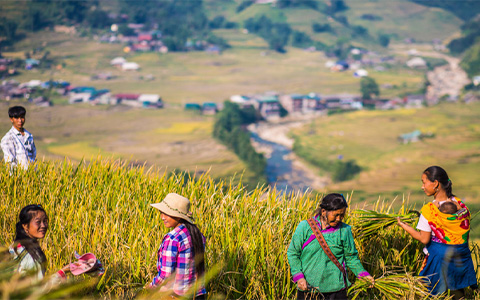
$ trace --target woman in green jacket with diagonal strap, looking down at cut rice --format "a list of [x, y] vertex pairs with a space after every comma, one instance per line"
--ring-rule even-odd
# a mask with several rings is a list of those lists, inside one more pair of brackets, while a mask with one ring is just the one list
[[[374, 282], [358, 258], [351, 227], [342, 222], [347, 207], [343, 195], [328, 194], [315, 211], [312, 225], [307, 220], [298, 224], [287, 251], [297, 299], [348, 299], [350, 282], [345, 267]], [[321, 231], [342, 271], [325, 253], [311, 226]]]

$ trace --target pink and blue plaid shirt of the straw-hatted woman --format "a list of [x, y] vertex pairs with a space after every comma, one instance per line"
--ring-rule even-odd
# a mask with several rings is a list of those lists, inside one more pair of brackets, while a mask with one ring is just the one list
[[[205, 246], [205, 237], [203, 245]], [[158, 249], [158, 274], [153, 278], [151, 286], [160, 285], [168, 277], [174, 275], [173, 291], [177, 295], [186, 294], [197, 279], [192, 252], [192, 239], [185, 225], [180, 224], [167, 233]], [[203, 283], [199, 283], [197, 296], [206, 293]]]

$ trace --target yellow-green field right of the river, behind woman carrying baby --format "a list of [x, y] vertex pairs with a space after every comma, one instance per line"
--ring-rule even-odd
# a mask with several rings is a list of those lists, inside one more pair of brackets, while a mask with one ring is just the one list
[[[430, 165], [449, 173], [453, 191], [467, 203], [480, 203], [480, 104], [441, 104], [418, 110], [359, 111], [316, 119], [295, 130], [308, 155], [355, 160], [363, 171], [353, 180], [328, 186], [354, 191], [360, 201], [410, 197], [427, 200], [420, 175]], [[420, 130], [433, 137], [403, 144], [401, 134]], [[321, 172], [321, 171], [319, 171]]]

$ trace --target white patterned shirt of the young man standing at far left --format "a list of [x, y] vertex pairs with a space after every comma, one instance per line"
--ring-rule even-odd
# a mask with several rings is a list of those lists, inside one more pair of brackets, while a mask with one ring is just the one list
[[24, 133], [25, 135], [22, 136], [20, 131], [12, 126], [2, 138], [1, 146], [5, 163], [12, 167], [20, 165], [27, 169], [31, 163], [35, 162], [37, 149], [32, 134], [27, 130], [24, 130]]

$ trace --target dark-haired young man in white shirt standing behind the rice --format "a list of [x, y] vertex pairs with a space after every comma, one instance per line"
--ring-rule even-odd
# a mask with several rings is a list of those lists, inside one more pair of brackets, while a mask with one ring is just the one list
[[8, 109], [12, 128], [2, 138], [1, 146], [6, 164], [10, 167], [20, 165], [23, 169], [35, 162], [37, 149], [33, 136], [23, 128], [27, 111], [23, 106], [13, 106]]

